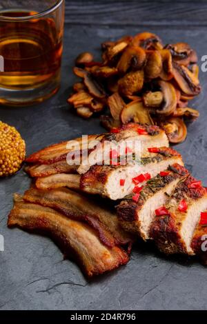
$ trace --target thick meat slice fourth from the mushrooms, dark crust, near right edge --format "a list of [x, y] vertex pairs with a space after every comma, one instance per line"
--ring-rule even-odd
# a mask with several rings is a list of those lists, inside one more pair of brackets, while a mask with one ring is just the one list
[[181, 181], [166, 202], [166, 214], [157, 216], [150, 236], [166, 254], [195, 254], [190, 246], [200, 214], [207, 208], [207, 192], [193, 176]]

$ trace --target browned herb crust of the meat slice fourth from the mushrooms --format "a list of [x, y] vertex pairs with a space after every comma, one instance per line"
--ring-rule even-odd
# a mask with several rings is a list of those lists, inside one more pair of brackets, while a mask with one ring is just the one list
[[196, 179], [193, 176], [188, 176], [177, 185], [165, 206], [169, 214], [158, 216], [151, 225], [150, 236], [155, 240], [159, 250], [166, 254], [188, 253], [186, 244], [180, 235], [181, 224], [186, 214], [179, 211], [178, 205], [181, 199], [185, 199], [190, 205], [192, 201], [196, 201], [206, 194], [203, 187], [189, 188], [192, 181], [196, 181]]

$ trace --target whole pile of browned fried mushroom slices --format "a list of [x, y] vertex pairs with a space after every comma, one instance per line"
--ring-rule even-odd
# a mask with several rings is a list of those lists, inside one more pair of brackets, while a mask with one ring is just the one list
[[186, 120], [199, 112], [188, 101], [199, 92], [197, 54], [188, 43], [163, 45], [157, 35], [143, 32], [135, 37], [101, 44], [102, 61], [81, 53], [73, 69], [81, 82], [68, 99], [83, 118], [109, 108], [101, 123], [108, 129], [134, 121], [164, 128], [171, 143], [186, 139]]

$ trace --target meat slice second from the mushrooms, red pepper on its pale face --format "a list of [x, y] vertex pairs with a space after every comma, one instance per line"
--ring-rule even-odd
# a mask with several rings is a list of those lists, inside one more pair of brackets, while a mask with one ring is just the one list
[[172, 148], [159, 148], [157, 153], [148, 152], [132, 165], [94, 165], [82, 174], [80, 189], [112, 200], [123, 199], [132, 193], [135, 188], [133, 179], [139, 174], [149, 173], [153, 177], [174, 163], [183, 165], [181, 155]]

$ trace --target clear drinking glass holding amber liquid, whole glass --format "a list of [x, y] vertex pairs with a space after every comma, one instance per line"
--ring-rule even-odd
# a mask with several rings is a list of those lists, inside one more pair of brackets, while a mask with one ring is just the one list
[[64, 0], [0, 1], [0, 104], [30, 105], [60, 85]]

